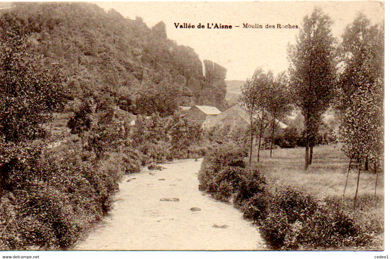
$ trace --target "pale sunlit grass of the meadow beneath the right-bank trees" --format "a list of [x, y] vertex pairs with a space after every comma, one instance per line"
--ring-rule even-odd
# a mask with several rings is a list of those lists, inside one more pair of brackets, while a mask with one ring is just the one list
[[[312, 165], [304, 170], [305, 147], [294, 149], [274, 149], [270, 158], [269, 150], [260, 152], [260, 162], [253, 155], [253, 165], [263, 172], [274, 184], [292, 185], [304, 188], [319, 199], [342, 197], [346, 183], [349, 160], [335, 145], [314, 147]], [[350, 170], [345, 196], [353, 198], [356, 191], [358, 170]], [[376, 175], [362, 171], [359, 182], [359, 196], [373, 196]], [[377, 180], [377, 196], [384, 196], [384, 175]]]

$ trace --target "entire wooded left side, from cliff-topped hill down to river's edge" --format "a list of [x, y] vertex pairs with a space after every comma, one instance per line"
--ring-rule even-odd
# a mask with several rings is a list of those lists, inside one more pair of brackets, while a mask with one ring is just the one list
[[[0, 28], [2, 250], [69, 249], [111, 209], [124, 174], [204, 154], [200, 125], [178, 106], [224, 110], [226, 69], [204, 60], [204, 76], [162, 22], [148, 28], [86, 3], [15, 3]], [[56, 132], [45, 126], [53, 114], [66, 120]]]

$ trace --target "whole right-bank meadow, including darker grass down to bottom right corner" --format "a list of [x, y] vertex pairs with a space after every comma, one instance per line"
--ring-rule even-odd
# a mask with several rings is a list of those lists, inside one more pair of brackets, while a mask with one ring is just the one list
[[[256, 153], [256, 152], [255, 152]], [[260, 162], [253, 155], [252, 165], [264, 172], [272, 188], [290, 185], [310, 192], [330, 209], [349, 211], [358, 225], [373, 233], [375, 242], [359, 250], [384, 249], [384, 174], [378, 175], [375, 196], [376, 175], [369, 171], [360, 174], [356, 206], [353, 206], [357, 186], [358, 170], [350, 170], [344, 200], [342, 200], [349, 160], [338, 146], [314, 147], [312, 165], [304, 170], [305, 147], [275, 149], [260, 152]]]

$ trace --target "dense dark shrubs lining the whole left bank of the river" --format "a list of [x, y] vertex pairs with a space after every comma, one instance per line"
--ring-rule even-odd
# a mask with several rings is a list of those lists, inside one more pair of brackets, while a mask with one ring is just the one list
[[111, 209], [124, 174], [151, 162], [197, 158], [216, 144], [213, 132], [203, 137], [179, 114], [139, 116], [129, 128], [111, 113], [95, 114], [90, 130], [78, 135], [0, 139], [1, 250], [72, 248]]

